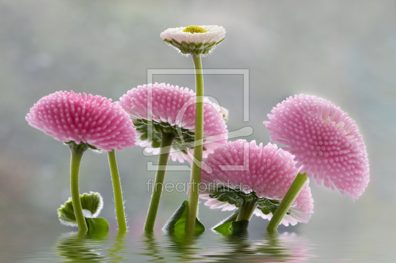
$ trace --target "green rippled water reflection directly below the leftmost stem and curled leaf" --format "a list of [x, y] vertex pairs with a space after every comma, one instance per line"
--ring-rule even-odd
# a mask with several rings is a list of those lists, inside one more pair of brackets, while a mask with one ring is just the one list
[[63, 234], [56, 242], [55, 251], [64, 258], [63, 262], [105, 262], [103, 243], [105, 235], [89, 235], [78, 232]]

